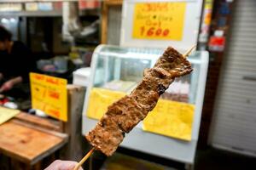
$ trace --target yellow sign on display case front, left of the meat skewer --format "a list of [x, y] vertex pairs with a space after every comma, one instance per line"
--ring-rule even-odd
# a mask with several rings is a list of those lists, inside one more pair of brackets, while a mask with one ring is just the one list
[[90, 91], [87, 116], [100, 119], [108, 111], [108, 106], [125, 96], [124, 92], [117, 92], [105, 88], [92, 88]]

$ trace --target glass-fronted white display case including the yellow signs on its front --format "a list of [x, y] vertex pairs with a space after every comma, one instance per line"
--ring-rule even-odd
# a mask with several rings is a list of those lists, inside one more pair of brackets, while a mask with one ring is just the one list
[[[107, 111], [108, 105], [131, 93], [142, 80], [143, 71], [153, 67], [163, 51], [164, 49], [158, 48], [122, 48], [110, 45], [96, 48], [92, 57], [90, 84], [84, 99], [84, 134], [96, 125]], [[126, 135], [121, 146], [177, 161], [194, 161], [208, 53], [196, 51], [189, 55], [189, 61], [193, 72], [172, 82], [154, 111]]]

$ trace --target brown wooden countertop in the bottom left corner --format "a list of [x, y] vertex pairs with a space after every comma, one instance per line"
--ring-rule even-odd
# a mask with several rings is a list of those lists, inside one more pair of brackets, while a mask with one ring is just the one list
[[0, 126], [0, 151], [34, 165], [67, 144], [67, 134], [55, 130], [56, 125], [49, 120], [20, 113]]

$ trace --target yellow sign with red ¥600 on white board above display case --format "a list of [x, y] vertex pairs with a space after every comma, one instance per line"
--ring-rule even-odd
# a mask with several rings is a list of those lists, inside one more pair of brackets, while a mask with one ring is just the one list
[[183, 38], [186, 3], [136, 3], [132, 37], [137, 39], [175, 40]]

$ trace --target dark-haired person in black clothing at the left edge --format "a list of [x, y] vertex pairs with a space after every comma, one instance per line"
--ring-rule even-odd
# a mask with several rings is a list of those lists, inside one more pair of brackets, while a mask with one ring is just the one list
[[0, 93], [9, 91], [20, 82], [28, 82], [35, 61], [26, 45], [12, 41], [12, 34], [0, 26]]

